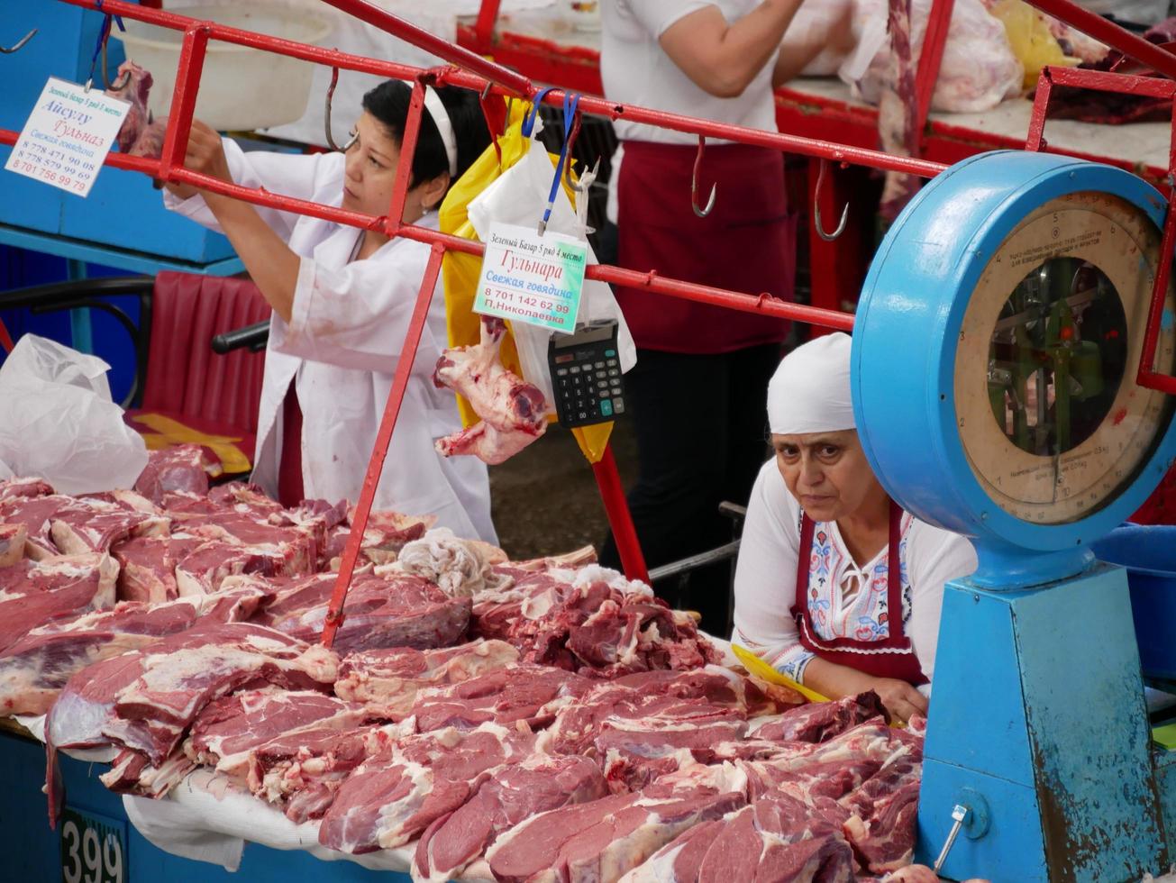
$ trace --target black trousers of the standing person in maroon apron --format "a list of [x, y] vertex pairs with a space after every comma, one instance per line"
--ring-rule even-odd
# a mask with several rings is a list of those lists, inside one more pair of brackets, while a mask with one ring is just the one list
[[[624, 375], [639, 470], [628, 500], [650, 568], [730, 540], [719, 503], [746, 506], [768, 457], [768, 380], [780, 357], [775, 343], [721, 355], [637, 352]], [[612, 535], [601, 563], [620, 568]], [[717, 635], [727, 628], [729, 577], [729, 562], [721, 562], [655, 589], [701, 613], [702, 628]]]

